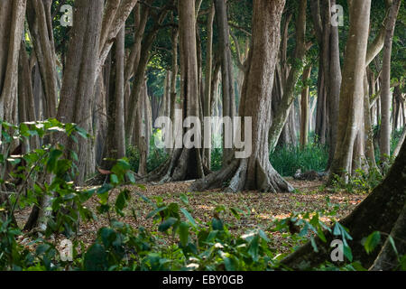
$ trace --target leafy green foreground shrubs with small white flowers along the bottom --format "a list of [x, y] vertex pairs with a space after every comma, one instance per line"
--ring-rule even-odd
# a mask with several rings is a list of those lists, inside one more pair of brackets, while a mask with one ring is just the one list
[[[77, 126], [63, 125], [56, 120], [24, 123], [21, 126], [2, 123], [2, 126], [2, 145], [6, 152], [16, 138], [24, 143], [32, 135], [55, 140], [58, 137], [50, 136], [63, 133], [73, 140], [77, 140], [77, 136], [88, 136]], [[166, 203], [160, 196], [149, 200], [140, 192], [128, 191], [121, 184], [125, 180], [134, 182], [134, 175], [130, 171], [132, 165], [126, 159], [115, 163], [111, 170], [111, 182], [91, 189], [78, 188], [71, 182], [76, 173], [74, 163], [77, 157], [73, 152], [67, 153], [62, 145], [50, 142], [19, 157], [1, 154], [2, 163], [19, 165], [14, 170], [14, 177], [37, 182], [32, 187], [26, 182], [23, 187], [28, 189], [27, 194], [19, 191], [10, 198], [11, 206], [5, 204], [0, 207], [0, 217], [5, 216], [0, 218], [0, 270], [289, 270], [279, 263], [286, 254], [278, 254], [272, 247], [272, 239], [262, 229], [249, 229], [238, 237], [231, 234], [228, 229], [230, 224], [222, 216], [231, 213], [240, 219], [241, 213], [244, 213], [242, 210], [218, 205], [213, 211], [213, 218], [203, 222], [194, 219], [186, 194], [180, 194], [180, 202]], [[70, 157], [66, 158], [67, 155]], [[19, 158], [23, 158], [24, 162], [17, 162]], [[113, 191], [118, 191], [115, 200], [112, 198]], [[17, 241], [27, 235], [13, 223], [12, 213], [16, 207], [38, 204], [44, 194], [52, 197], [47, 229], [37, 237], [30, 238], [31, 242], [26, 247]], [[85, 203], [90, 198], [97, 200], [97, 212], [86, 207]], [[113, 217], [124, 217], [129, 211], [136, 216], [134, 209], [129, 208], [131, 198], [139, 198], [151, 205], [152, 211], [147, 218], [153, 221], [152, 229], [133, 228]], [[337, 221], [333, 228], [329, 228], [322, 221], [323, 217], [334, 217], [337, 210], [338, 207], [332, 206], [328, 200], [328, 210], [292, 213], [289, 219], [275, 220], [271, 224], [272, 230], [281, 231], [287, 241], [296, 247], [309, 239], [316, 251], [319, 246], [316, 237], [327, 243], [328, 231], [343, 240], [344, 254], [352, 262], [352, 252], [347, 243], [351, 236], [346, 228]], [[106, 216], [108, 224], [100, 228], [97, 238], [89, 247], [85, 247], [76, 238], [78, 219], [83, 222], [95, 220], [97, 214]], [[73, 260], [61, 258], [58, 244], [49, 241], [54, 234], [63, 234], [72, 241]], [[364, 247], [371, 251], [378, 242], [375, 233], [366, 238]], [[392, 244], [394, 247], [394, 242]], [[404, 269], [404, 256], [399, 256], [399, 260]], [[362, 266], [356, 262], [345, 266], [327, 263], [313, 269], [361, 270]]]

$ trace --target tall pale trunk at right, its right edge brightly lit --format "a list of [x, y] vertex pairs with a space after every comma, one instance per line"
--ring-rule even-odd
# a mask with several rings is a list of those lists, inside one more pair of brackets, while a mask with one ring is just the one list
[[363, 109], [365, 56], [368, 41], [369, 15], [371, 1], [357, 1], [351, 5], [351, 23], [346, 43], [346, 60], [343, 70], [343, 85], [340, 93], [337, 147], [331, 163], [329, 182], [336, 175], [347, 180], [351, 172], [352, 156], [360, 120], [359, 111]]

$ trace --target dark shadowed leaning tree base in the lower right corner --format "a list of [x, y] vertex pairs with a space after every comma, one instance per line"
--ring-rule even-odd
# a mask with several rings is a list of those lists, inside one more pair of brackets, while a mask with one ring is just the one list
[[[406, 143], [401, 148], [401, 153], [396, 158], [392, 169], [385, 180], [345, 219], [339, 221], [348, 228], [350, 236], [348, 241], [355, 261], [360, 261], [365, 268], [371, 270], [391, 270], [398, 264], [397, 258], [392, 253], [389, 238], [378, 245], [371, 254], [366, 254], [362, 245], [363, 238], [374, 231], [381, 232], [381, 236], [390, 234], [395, 242], [400, 256], [406, 254], [405, 214], [406, 214]], [[330, 243], [337, 236], [325, 232], [327, 242], [316, 238], [318, 252], [313, 250], [311, 243], [300, 247], [291, 256], [282, 261], [283, 266], [291, 269], [304, 270], [318, 266], [329, 260]], [[374, 266], [373, 266], [374, 265]], [[372, 267], [370, 267], [372, 266]]]

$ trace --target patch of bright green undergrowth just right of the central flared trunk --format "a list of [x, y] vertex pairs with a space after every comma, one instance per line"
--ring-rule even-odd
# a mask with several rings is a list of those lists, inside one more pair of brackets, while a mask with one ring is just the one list
[[318, 144], [309, 144], [304, 149], [283, 146], [270, 154], [270, 161], [282, 176], [293, 176], [299, 169], [302, 172], [323, 172], [328, 163], [328, 148]]

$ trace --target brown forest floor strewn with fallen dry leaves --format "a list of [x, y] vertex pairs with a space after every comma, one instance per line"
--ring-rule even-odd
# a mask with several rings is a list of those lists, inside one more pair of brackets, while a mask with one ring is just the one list
[[[258, 191], [245, 191], [241, 193], [228, 193], [221, 190], [186, 193], [190, 182], [172, 182], [161, 185], [146, 185], [143, 189], [137, 186], [124, 186], [120, 190], [112, 191], [109, 201], [115, 202], [118, 193], [127, 189], [133, 192], [128, 208], [125, 210], [125, 218], [117, 217], [114, 214], [111, 218], [119, 219], [134, 228], [144, 227], [157, 231], [158, 224], [153, 219], [147, 219], [147, 215], [153, 210], [151, 204], [148, 204], [135, 192], [143, 194], [152, 201], [161, 198], [166, 204], [177, 202], [180, 208], [184, 207], [191, 212], [191, 215], [197, 222], [208, 222], [214, 216], [214, 211], [219, 205], [226, 208], [238, 208], [244, 211], [240, 219], [236, 219], [230, 210], [221, 214], [221, 219], [228, 224], [228, 229], [235, 236], [243, 235], [247, 230], [261, 228], [272, 236], [272, 247], [279, 252], [286, 252], [290, 249], [289, 241], [283, 237], [280, 232], [272, 231], [272, 220], [286, 219], [291, 213], [306, 213], [316, 210], [331, 210], [328, 208], [328, 198], [332, 205], [338, 205], [339, 210], [335, 219], [341, 219], [354, 210], [366, 194], [350, 194], [345, 191], [329, 191], [322, 182], [294, 181], [289, 182], [296, 188], [293, 193], [259, 193]], [[180, 200], [180, 195], [186, 194], [189, 203], [185, 204]], [[88, 200], [88, 208], [97, 211], [97, 197]], [[15, 217], [20, 226], [23, 226], [28, 219], [30, 210], [17, 211]], [[133, 213], [134, 212], [134, 213]], [[323, 217], [322, 220], [330, 224], [331, 219]], [[108, 226], [108, 219], [105, 216], [97, 215], [96, 221], [80, 224], [78, 238], [87, 246], [92, 244], [97, 237], [97, 230]], [[163, 233], [162, 233], [163, 234]], [[63, 236], [57, 236], [54, 241], [58, 242]], [[176, 241], [167, 236], [168, 244]]]

